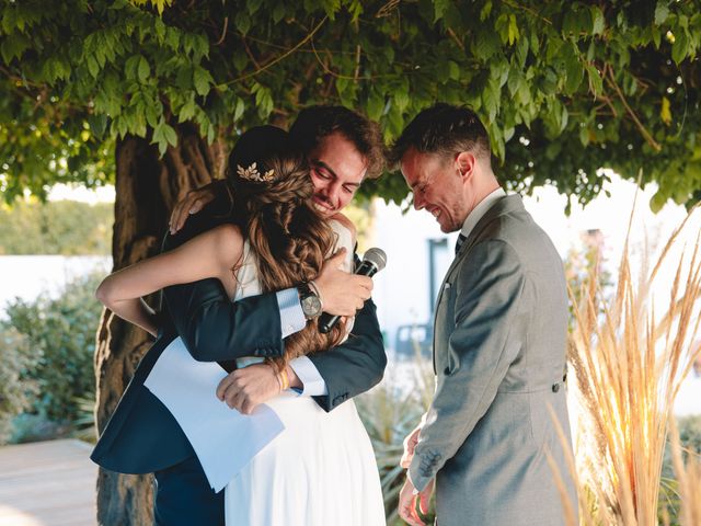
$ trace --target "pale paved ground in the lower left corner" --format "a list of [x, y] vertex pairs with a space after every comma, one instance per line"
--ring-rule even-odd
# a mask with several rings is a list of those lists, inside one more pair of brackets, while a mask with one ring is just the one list
[[0, 526], [94, 526], [90, 450], [76, 439], [0, 447]]

